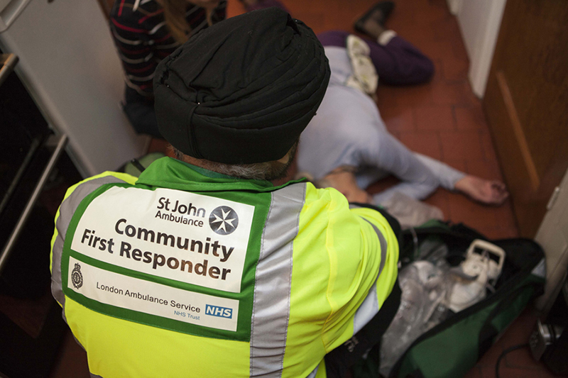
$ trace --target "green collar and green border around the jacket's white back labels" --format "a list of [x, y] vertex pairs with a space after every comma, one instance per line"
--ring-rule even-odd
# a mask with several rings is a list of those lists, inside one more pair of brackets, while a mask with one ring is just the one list
[[[163, 174], [165, 170], [169, 171], [169, 173], [166, 175]], [[175, 170], [175, 173], [172, 173], [172, 170]], [[168, 180], [164, 181], [164, 177], [168, 177]], [[172, 177], [174, 177], [174, 179], [172, 179]], [[196, 182], [194, 180], [200, 182]], [[241, 278], [241, 291], [233, 293], [219, 289], [202, 287], [197, 284], [180, 282], [175, 279], [168, 279], [165, 277], [160, 277], [158, 275], [147, 274], [133, 269], [128, 269], [126, 267], [121, 267], [119, 265], [109, 264], [108, 262], [100, 261], [87, 255], [83, 255], [76, 250], [72, 250], [72, 240], [75, 236], [75, 233], [77, 232], [77, 226], [79, 225], [80, 219], [84, 215], [84, 212], [87, 211], [87, 208], [92, 203], [92, 201], [97, 199], [97, 197], [102, 196], [106, 191], [114, 187], [121, 187], [125, 188], [126, 190], [129, 190], [129, 188], [155, 190], [159, 189], [160, 187], [165, 187], [166, 189], [180, 189], [183, 191], [192, 191], [192, 193], [194, 194], [212, 196], [218, 199], [225, 199], [228, 201], [234, 201], [240, 204], [253, 206], [253, 220], [251, 232], [249, 235], [246, 257], [244, 260], [243, 276]], [[188, 187], [199, 187], [201, 190], [190, 190], [188, 189]], [[233, 189], [231, 190], [229, 189], [229, 187], [233, 187]], [[236, 189], [234, 187], [239, 188]], [[243, 191], [243, 189], [245, 189], [246, 191]], [[109, 316], [114, 316], [116, 318], [134, 321], [137, 323], [146, 324], [148, 326], [173, 330], [180, 333], [187, 333], [190, 335], [248, 342], [251, 336], [251, 314], [253, 306], [253, 289], [256, 274], [256, 265], [258, 263], [259, 251], [261, 248], [263, 228], [266, 222], [266, 217], [268, 215], [268, 209], [271, 204], [270, 191], [273, 191], [275, 189], [278, 189], [278, 187], [272, 187], [270, 182], [255, 180], [235, 182], [234, 179], [228, 179], [227, 177], [210, 177], [209, 175], [205, 176], [204, 174], [202, 174], [202, 172], [197, 172], [197, 170], [194, 170], [193, 167], [190, 167], [190, 165], [185, 165], [185, 163], [183, 162], [179, 162], [178, 160], [171, 160], [169, 158], [163, 158], [154, 162], [150, 167], [148, 167], [148, 169], [146, 169], [146, 171], [143, 172], [141, 178], [138, 179], [138, 182], [136, 182], [134, 186], [130, 184], [103, 185], [102, 187], [99, 187], [97, 190], [89, 194], [82, 201], [80, 206], [77, 208], [77, 211], [73, 215], [72, 221], [67, 230], [67, 235], [65, 235], [65, 245], [62, 255], [63, 291], [66, 296], [77, 301], [83, 306], [91, 308], [93, 311], [104, 313]], [[207, 217], [208, 216], [209, 214], [207, 214]], [[80, 230], [79, 232], [82, 232], [82, 230]], [[114, 248], [114, 253], [118, 254], [118, 245], [116, 245]], [[94, 299], [89, 299], [87, 298], [87, 296], [79, 294], [77, 293], [77, 291], [67, 286], [69, 282], [68, 274], [70, 272], [70, 257], [84, 262], [85, 264], [92, 265], [93, 267], [104, 269], [108, 272], [121, 274], [126, 277], [143, 279], [148, 282], [155, 282], [158, 284], [166, 285], [168, 287], [182, 289], [185, 291], [192, 291], [199, 294], [217, 296], [224, 299], [238, 300], [239, 314], [236, 331], [209, 328], [206, 326], [187, 323], [185, 321], [176, 321], [171, 318], [164, 318], [162, 316], [156, 316], [151, 313], [134, 311], [129, 308], [112, 306], [110, 304], [105, 304]]]

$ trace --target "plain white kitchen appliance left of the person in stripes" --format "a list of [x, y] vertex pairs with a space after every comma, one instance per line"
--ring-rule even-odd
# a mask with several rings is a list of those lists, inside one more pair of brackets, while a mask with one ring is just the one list
[[143, 155], [148, 138], [119, 107], [121, 63], [97, 1], [11, 0], [0, 21], [2, 50], [20, 58], [16, 73], [50, 126], [69, 137], [84, 176]]

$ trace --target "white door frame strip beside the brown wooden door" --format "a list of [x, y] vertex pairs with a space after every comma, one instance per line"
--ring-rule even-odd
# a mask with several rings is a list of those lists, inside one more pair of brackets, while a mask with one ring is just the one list
[[469, 81], [483, 97], [506, 0], [447, 0], [469, 55]]

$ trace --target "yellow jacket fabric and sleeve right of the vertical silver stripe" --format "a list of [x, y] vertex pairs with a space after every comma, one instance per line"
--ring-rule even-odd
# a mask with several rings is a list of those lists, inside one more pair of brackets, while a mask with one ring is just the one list
[[353, 335], [356, 310], [381, 265], [381, 245], [368, 221], [388, 243], [385, 266], [376, 282], [380, 308], [397, 274], [398, 242], [393, 230], [377, 211], [349, 210], [339, 191], [307, 185], [294, 240], [283, 377], [305, 377], [317, 366], [306, 366], [306, 360], [320, 362]]

